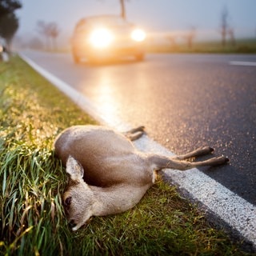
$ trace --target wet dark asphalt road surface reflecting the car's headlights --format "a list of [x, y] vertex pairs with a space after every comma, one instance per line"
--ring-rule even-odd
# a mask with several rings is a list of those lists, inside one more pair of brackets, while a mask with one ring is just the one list
[[149, 54], [97, 66], [26, 56], [175, 154], [213, 146], [230, 165], [202, 171], [256, 205], [256, 55]]

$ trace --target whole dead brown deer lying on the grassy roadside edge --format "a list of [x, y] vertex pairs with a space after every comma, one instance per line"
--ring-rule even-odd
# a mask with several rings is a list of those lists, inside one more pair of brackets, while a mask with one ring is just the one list
[[103, 126], [71, 126], [58, 135], [55, 153], [70, 174], [63, 206], [72, 230], [78, 230], [92, 216], [118, 214], [134, 207], [154, 184], [158, 170], [188, 170], [229, 161], [223, 156], [186, 161], [212, 153], [209, 146], [171, 158], [142, 153], [130, 141], [141, 137], [143, 131], [143, 126], [124, 134]]

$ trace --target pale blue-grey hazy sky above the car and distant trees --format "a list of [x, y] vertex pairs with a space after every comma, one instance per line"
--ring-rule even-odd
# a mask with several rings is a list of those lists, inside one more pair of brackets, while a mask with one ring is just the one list
[[[80, 18], [120, 14], [119, 0], [20, 0], [17, 10], [22, 38], [40, 37], [38, 21], [56, 22], [61, 38], [70, 38]], [[220, 37], [221, 13], [238, 38], [256, 37], [256, 0], [128, 0], [126, 16], [148, 33], [174, 33], [194, 27], [200, 39]], [[64, 39], [66, 40], [66, 39]]]

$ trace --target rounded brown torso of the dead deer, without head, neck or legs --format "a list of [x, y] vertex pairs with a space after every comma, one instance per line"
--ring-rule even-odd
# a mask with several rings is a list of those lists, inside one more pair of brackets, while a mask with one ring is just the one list
[[[90, 185], [142, 185], [152, 180], [144, 154], [124, 135], [102, 126], [70, 127], [56, 140], [55, 152], [65, 164], [69, 156], [75, 158], [85, 170], [84, 180]], [[127, 162], [133, 162], [137, 168]]]

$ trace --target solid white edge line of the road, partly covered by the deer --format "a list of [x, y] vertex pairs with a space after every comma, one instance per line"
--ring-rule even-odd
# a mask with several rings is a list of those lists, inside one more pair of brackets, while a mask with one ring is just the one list
[[[42, 74], [47, 80], [62, 90], [70, 97], [78, 106], [93, 116], [98, 122], [107, 126], [115, 127], [118, 130], [126, 130], [130, 125], [123, 123], [122, 120], [106, 120], [97, 106], [94, 105], [88, 98], [74, 90], [72, 86], [55, 77], [50, 72], [38, 66], [35, 62], [26, 57], [26, 54], [20, 54], [30, 66]], [[134, 145], [142, 151], [154, 152], [158, 154], [174, 155], [165, 147], [147, 136], [143, 136]], [[216, 214], [218, 218], [226, 222], [234, 230], [238, 231], [247, 241], [251, 242], [256, 248], [256, 206], [247, 202], [245, 199], [234, 194], [222, 184], [216, 182], [200, 170], [194, 168], [189, 171], [165, 170], [165, 174], [182, 190], [186, 190], [191, 198], [201, 202], [206, 209]]]

